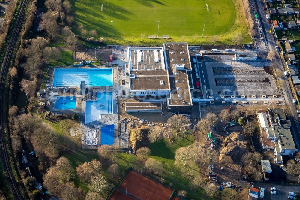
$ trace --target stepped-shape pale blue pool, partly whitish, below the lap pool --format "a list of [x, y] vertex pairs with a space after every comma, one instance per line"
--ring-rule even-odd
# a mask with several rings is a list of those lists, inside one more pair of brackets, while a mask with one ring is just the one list
[[113, 92], [98, 92], [97, 100], [86, 101], [85, 123], [100, 120], [105, 114], [113, 114]]

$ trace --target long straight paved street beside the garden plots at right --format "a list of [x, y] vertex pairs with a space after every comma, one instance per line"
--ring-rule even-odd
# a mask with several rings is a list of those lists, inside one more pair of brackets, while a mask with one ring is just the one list
[[[268, 43], [268, 52], [275, 50], [275, 46], [277, 46], [277, 41], [273, 39], [273, 34], [270, 34], [269, 30], [271, 28], [270, 24], [268, 24], [265, 16], [267, 12], [263, 10], [264, 3], [262, 0], [254, 0], [256, 4], [256, 8], [259, 14], [259, 19], [261, 22], [262, 29], [265, 33], [265, 38]], [[273, 58], [275, 73], [277, 74], [277, 77], [279, 79], [279, 83], [281, 83], [281, 94], [283, 96], [283, 99], [286, 102], [287, 107], [291, 109], [292, 116], [290, 117], [290, 120], [292, 122], [292, 132], [294, 133], [297, 144], [300, 142], [300, 124], [297, 114], [297, 105], [293, 103], [294, 96], [292, 94], [292, 89], [289, 84], [289, 80], [286, 76], [284, 76], [284, 66], [285, 63], [282, 60], [279, 52], [275, 51], [275, 56]], [[299, 148], [299, 147], [298, 147]]]

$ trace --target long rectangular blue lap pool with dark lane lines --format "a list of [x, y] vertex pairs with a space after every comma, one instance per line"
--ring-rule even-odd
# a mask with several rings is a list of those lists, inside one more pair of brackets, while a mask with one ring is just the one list
[[87, 87], [113, 86], [113, 69], [54, 69], [53, 87], [79, 87], [81, 81]]

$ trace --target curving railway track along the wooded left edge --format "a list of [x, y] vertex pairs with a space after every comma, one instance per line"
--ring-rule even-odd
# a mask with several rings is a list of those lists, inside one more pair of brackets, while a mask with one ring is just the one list
[[[0, 105], [3, 105], [3, 92], [4, 92], [4, 80], [5, 76], [7, 74], [7, 69], [9, 67], [9, 63], [11, 60], [11, 56], [13, 54], [13, 49], [15, 47], [16, 39], [19, 34], [19, 30], [22, 25], [22, 20], [25, 15], [26, 5], [29, 0], [24, 0], [21, 6], [21, 10], [19, 12], [19, 15], [17, 17], [15, 26], [13, 27], [12, 36], [9, 40], [9, 43], [7, 45], [6, 53], [4, 56], [4, 60], [1, 66], [1, 72], [0, 72]], [[1, 154], [2, 154], [2, 160], [4, 164], [5, 173], [8, 175], [8, 180], [10, 183], [10, 186], [13, 191], [13, 195], [15, 199], [21, 200], [22, 195], [20, 193], [19, 187], [16, 183], [16, 179], [13, 176], [13, 171], [11, 170], [9, 158], [7, 156], [7, 150], [5, 147], [5, 140], [4, 140], [4, 121], [3, 121], [3, 106], [0, 106], [0, 147], [1, 147]]]

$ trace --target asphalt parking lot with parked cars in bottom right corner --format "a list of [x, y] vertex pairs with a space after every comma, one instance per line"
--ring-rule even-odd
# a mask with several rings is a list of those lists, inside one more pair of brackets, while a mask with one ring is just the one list
[[[298, 186], [289, 186], [289, 185], [278, 185], [272, 183], [254, 183], [255, 188], [264, 187], [265, 188], [265, 196], [264, 200], [286, 200], [288, 199], [289, 191], [295, 192], [299, 194], [299, 187]], [[279, 195], [272, 195], [271, 194], [271, 187], [276, 187], [280, 189]], [[260, 198], [259, 198], [260, 199]]]

